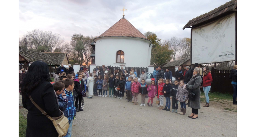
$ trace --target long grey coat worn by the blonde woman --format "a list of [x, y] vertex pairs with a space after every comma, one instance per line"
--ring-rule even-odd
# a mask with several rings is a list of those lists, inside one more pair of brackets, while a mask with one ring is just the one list
[[194, 109], [200, 109], [200, 84], [202, 82], [201, 76], [198, 74], [196, 77], [190, 79], [190, 81], [186, 84], [189, 85], [189, 89], [193, 89], [193, 92], [196, 94], [195, 101], [191, 101], [189, 99], [188, 107]]

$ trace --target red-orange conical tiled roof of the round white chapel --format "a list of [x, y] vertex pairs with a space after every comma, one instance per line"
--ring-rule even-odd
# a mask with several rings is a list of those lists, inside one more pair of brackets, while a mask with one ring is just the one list
[[136, 37], [148, 40], [124, 17], [97, 38], [101, 37]]

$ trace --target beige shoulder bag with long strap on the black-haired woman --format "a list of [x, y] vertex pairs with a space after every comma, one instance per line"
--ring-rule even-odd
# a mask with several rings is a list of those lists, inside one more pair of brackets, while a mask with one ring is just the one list
[[38, 108], [38, 110], [40, 110], [43, 115], [45, 115], [48, 119], [50, 119], [55, 127], [55, 129], [57, 130], [59, 136], [58, 137], [63, 137], [66, 136], [67, 134], [67, 130], [69, 128], [69, 123], [68, 123], [68, 119], [67, 117], [64, 116], [63, 112], [61, 111], [62, 115], [59, 117], [50, 117], [44, 110], [42, 110], [31, 98], [31, 96], [29, 95], [29, 99], [31, 100], [31, 102], [35, 105], [36, 108]]

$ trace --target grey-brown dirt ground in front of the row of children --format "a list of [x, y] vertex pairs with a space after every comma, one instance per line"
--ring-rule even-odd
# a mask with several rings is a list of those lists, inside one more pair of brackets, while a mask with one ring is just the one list
[[[236, 106], [230, 105], [230, 101], [210, 101], [207, 108], [203, 108], [205, 103], [201, 103], [198, 119], [188, 118], [191, 108], [187, 107], [186, 115], [179, 115], [158, 110], [155, 101], [156, 98], [153, 107], [148, 107], [140, 106], [140, 95], [139, 105], [126, 102], [125, 97], [84, 97], [84, 111], [76, 114], [72, 136], [237, 136]], [[20, 101], [19, 105], [22, 105]], [[223, 105], [235, 109], [224, 110]], [[26, 109], [19, 111], [26, 116]]]

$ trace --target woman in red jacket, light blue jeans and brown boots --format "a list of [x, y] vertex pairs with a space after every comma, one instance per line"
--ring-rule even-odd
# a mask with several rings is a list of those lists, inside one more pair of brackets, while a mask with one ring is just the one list
[[208, 93], [211, 89], [211, 82], [212, 82], [212, 77], [211, 77], [210, 70], [207, 66], [205, 66], [204, 72], [203, 72], [203, 90], [205, 92], [206, 104], [204, 107], [210, 106]]

